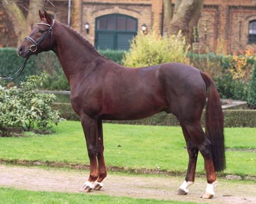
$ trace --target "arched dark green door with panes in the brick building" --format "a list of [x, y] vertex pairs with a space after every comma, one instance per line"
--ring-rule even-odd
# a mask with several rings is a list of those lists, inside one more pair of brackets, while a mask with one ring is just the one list
[[129, 50], [137, 34], [138, 20], [131, 16], [111, 14], [96, 18], [95, 46], [98, 50]]

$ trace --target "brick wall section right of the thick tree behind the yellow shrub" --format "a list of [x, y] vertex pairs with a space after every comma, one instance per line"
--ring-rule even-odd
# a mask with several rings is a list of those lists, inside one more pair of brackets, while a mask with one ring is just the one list
[[[215, 11], [208, 11], [207, 8], [214, 7]], [[215, 13], [213, 16], [212, 12]], [[227, 52], [245, 50], [248, 46], [248, 25], [252, 20], [256, 20], [255, 0], [205, 0], [204, 9], [199, 19], [199, 24], [212, 15], [214, 21], [211, 25], [215, 31], [209, 31], [214, 41], [214, 46], [210, 44], [209, 49], [215, 50], [219, 43], [223, 43]], [[202, 44], [202, 42], [200, 42]], [[250, 45], [256, 47], [255, 45]]]

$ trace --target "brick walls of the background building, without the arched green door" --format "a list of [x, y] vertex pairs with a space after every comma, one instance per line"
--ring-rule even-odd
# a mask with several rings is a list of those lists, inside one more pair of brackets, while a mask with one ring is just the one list
[[[55, 7], [48, 4], [48, 10], [55, 13], [58, 21], [66, 24], [68, 0], [51, 2]], [[95, 19], [111, 13], [137, 18], [138, 31], [141, 31], [141, 26], [145, 23], [148, 32], [152, 29], [158, 33], [162, 32], [162, 0], [81, 0], [81, 2], [82, 7], [79, 12], [76, 11], [76, 15], [79, 16], [77, 31], [92, 44], [95, 43]], [[172, 0], [172, 3], [175, 3], [175, 0]], [[220, 43], [224, 45], [227, 52], [246, 49], [248, 25], [254, 19], [256, 20], [255, 0], [205, 0], [198, 22], [199, 49], [215, 51]], [[35, 21], [37, 22], [38, 19]], [[90, 24], [89, 34], [86, 34], [85, 22]], [[0, 6], [0, 46], [6, 45], [17, 46], [17, 40], [8, 15]]]

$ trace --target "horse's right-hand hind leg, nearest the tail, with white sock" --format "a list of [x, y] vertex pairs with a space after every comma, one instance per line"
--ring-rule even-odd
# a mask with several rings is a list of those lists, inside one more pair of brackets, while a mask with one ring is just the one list
[[[183, 123], [184, 124], [184, 123]], [[191, 141], [198, 147], [205, 161], [205, 170], [207, 176], [207, 187], [205, 194], [201, 198], [210, 199], [214, 195], [214, 187], [217, 184], [217, 178], [212, 160], [212, 144], [207, 139], [200, 122], [184, 124]]]

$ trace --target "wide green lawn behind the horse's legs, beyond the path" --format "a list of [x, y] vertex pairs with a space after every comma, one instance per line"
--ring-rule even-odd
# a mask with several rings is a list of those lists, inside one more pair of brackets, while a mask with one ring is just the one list
[[[57, 133], [0, 138], [0, 159], [89, 164], [82, 126], [63, 121]], [[256, 128], [226, 128], [226, 147], [256, 148]], [[104, 124], [105, 160], [108, 166], [151, 168], [186, 172], [188, 155], [180, 127]], [[119, 147], [120, 146], [120, 147]], [[255, 152], [227, 151], [225, 173], [256, 175]], [[198, 158], [197, 172], [204, 172]]]

